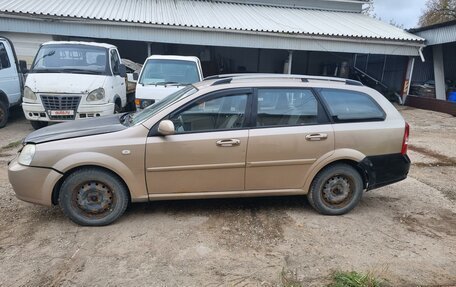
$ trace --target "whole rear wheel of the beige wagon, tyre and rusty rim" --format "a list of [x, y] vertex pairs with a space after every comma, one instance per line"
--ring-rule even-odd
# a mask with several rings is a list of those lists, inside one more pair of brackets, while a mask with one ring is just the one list
[[342, 215], [355, 208], [363, 195], [359, 172], [347, 164], [320, 171], [307, 194], [310, 205], [321, 214]]

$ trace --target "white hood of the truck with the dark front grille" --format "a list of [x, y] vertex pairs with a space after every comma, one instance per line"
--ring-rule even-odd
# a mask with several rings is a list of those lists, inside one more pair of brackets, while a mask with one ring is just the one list
[[103, 87], [106, 76], [69, 73], [32, 73], [25, 85], [35, 93], [88, 94]]

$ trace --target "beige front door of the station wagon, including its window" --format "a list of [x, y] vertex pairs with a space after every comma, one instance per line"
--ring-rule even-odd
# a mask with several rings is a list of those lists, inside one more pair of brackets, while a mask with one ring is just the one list
[[147, 139], [150, 194], [244, 190], [250, 91], [202, 96], [165, 118], [175, 134]]

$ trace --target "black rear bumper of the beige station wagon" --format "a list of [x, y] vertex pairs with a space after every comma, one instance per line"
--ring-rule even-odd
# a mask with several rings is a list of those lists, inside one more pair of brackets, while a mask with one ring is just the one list
[[406, 179], [410, 164], [410, 158], [403, 154], [368, 156], [359, 163], [366, 171], [368, 190]]

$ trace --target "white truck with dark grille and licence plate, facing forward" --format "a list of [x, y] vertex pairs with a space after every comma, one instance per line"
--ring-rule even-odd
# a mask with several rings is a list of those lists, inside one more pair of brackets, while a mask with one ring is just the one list
[[134, 105], [117, 48], [88, 42], [41, 45], [25, 82], [22, 108], [35, 129], [48, 122], [111, 115]]

